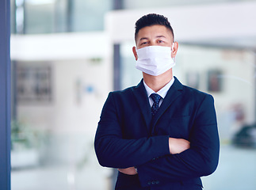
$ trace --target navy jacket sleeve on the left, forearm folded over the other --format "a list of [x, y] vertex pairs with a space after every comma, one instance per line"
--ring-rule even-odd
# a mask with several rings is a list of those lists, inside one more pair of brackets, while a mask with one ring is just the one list
[[120, 117], [113, 93], [109, 93], [102, 108], [94, 139], [94, 148], [100, 165], [120, 169], [128, 168], [143, 165], [153, 158], [170, 154], [168, 135], [143, 139], [122, 139]]

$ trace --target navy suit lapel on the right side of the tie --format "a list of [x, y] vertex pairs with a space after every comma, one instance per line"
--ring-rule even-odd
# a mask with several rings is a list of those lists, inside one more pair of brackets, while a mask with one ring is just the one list
[[155, 130], [155, 124], [157, 123], [159, 118], [162, 116], [162, 114], [181, 95], [182, 89], [183, 89], [183, 86], [181, 82], [179, 82], [178, 79], [175, 78], [174, 84], [168, 90], [166, 97], [163, 99], [162, 105], [160, 106], [158, 112], [155, 114], [155, 116], [151, 120], [151, 127], [150, 127], [151, 133], [153, 133], [153, 131]]

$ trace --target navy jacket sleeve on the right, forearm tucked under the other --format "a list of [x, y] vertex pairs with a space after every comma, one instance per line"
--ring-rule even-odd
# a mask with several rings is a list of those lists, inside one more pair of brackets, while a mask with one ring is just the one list
[[158, 181], [160, 184], [165, 181], [207, 176], [216, 170], [220, 141], [212, 96], [205, 96], [196, 112], [189, 136], [189, 150], [137, 166], [139, 180], [143, 186], [147, 186], [151, 181]]

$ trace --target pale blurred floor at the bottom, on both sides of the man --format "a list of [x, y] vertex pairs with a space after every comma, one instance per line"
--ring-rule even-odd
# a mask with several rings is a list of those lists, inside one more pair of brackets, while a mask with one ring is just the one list
[[[98, 165], [91, 155], [87, 165], [52, 165], [12, 172], [12, 190], [112, 190], [112, 169]], [[221, 146], [216, 172], [202, 177], [204, 190], [255, 190], [256, 150]]]

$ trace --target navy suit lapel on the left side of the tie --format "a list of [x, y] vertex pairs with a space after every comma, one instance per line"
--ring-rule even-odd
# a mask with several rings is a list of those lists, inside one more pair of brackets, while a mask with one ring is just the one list
[[135, 89], [133, 89], [133, 93], [136, 97], [136, 101], [138, 102], [140, 111], [143, 115], [143, 119], [145, 120], [147, 129], [149, 131], [152, 118], [151, 107], [149, 105], [146, 89], [143, 85], [143, 80], [141, 80], [141, 82], [139, 82], [139, 85], [136, 86]]

